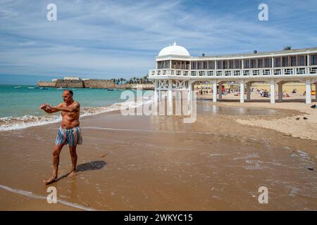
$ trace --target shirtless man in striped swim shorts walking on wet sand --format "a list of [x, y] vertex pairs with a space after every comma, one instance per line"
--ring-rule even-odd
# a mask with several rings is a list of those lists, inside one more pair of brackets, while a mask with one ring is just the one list
[[63, 92], [63, 101], [63, 103], [56, 106], [44, 103], [39, 107], [46, 113], [57, 113], [61, 111], [63, 118], [53, 148], [53, 175], [45, 180], [44, 184], [51, 184], [54, 181], [57, 181], [59, 154], [61, 153], [63, 146], [67, 144], [69, 145], [70, 156], [72, 159], [72, 170], [70, 174], [68, 174], [68, 177], [73, 176], [76, 173], [76, 146], [77, 144], [82, 144], [82, 132], [79, 127], [80, 104], [73, 100], [73, 91], [70, 90]]

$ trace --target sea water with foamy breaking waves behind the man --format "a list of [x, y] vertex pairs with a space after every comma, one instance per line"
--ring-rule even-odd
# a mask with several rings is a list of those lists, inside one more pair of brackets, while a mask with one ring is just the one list
[[[120, 109], [122, 89], [72, 89], [81, 115], [92, 115]], [[60, 113], [47, 114], [42, 103], [63, 103], [63, 89], [39, 89], [30, 85], [0, 85], [0, 131], [32, 127], [61, 120]]]

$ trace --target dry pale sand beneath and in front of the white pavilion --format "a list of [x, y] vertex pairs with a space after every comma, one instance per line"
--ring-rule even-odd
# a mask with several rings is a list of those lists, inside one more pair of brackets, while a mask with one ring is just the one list
[[[237, 119], [235, 121], [240, 124], [273, 129], [301, 139], [317, 141], [317, 109], [311, 108], [311, 105], [316, 104], [316, 102], [313, 99], [313, 103], [304, 104], [305, 96], [294, 94], [290, 94], [290, 96], [290, 98], [284, 98], [282, 103], [276, 101], [275, 104], [271, 104], [269, 103], [269, 98], [261, 98], [259, 94], [252, 93], [251, 102], [243, 103], [243, 107], [297, 110], [298, 113], [296, 115], [280, 117], [275, 120], [271, 118], [248, 118], [247, 120]], [[204, 96], [204, 98], [210, 97]], [[312, 98], [315, 98], [315, 96], [312, 96]], [[236, 100], [236, 102], [228, 101], [228, 99]], [[237, 102], [238, 99], [240, 99], [240, 96], [228, 94], [223, 96], [223, 101], [219, 105], [241, 106], [241, 103]], [[306, 120], [304, 120], [304, 117], [306, 117]]]

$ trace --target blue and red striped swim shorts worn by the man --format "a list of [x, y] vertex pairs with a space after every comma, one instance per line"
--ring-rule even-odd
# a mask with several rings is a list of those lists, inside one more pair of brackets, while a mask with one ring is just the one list
[[76, 146], [82, 144], [82, 131], [80, 127], [73, 127], [70, 129], [63, 129], [59, 127], [56, 136], [55, 145], [69, 145]]

